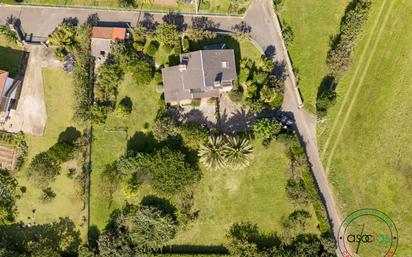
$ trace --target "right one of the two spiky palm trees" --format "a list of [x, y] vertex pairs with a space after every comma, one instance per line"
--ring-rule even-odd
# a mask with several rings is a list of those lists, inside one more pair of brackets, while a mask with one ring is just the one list
[[253, 147], [250, 141], [241, 137], [228, 137], [224, 146], [227, 163], [234, 169], [249, 166], [253, 157]]

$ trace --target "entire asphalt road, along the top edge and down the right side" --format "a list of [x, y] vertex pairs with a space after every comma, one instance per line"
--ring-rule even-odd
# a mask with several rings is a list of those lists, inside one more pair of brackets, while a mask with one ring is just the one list
[[[36, 37], [47, 38], [64, 18], [73, 17], [77, 18], [79, 22], [84, 22], [91, 14], [95, 13], [98, 14], [101, 21], [129, 22], [131, 25], [136, 24], [138, 21], [162, 22], [165, 15], [139, 11], [0, 5], [0, 23], [4, 23], [7, 17], [13, 15], [20, 18], [24, 32], [33, 33]], [[172, 18], [177, 23], [186, 23], [190, 26], [193, 23], [194, 17], [201, 16], [185, 15]], [[207, 16], [207, 18], [202, 20], [204, 24], [210, 23], [214, 28], [227, 31], [231, 31], [234, 25], [240, 24], [242, 21], [246, 23], [247, 27], [250, 26], [251, 38], [266, 54], [272, 54], [275, 59], [286, 63], [285, 68], [288, 77], [286, 79], [286, 91], [282, 109], [293, 115], [296, 120], [297, 131], [302, 142], [304, 142], [308, 160], [325, 202], [333, 232], [337, 236], [341, 220], [325, 170], [319, 158], [316, 142], [316, 117], [300, 108], [301, 100], [297, 94], [292, 66], [280, 33], [278, 20], [273, 11], [272, 2], [270, 0], [255, 0], [244, 17]]]

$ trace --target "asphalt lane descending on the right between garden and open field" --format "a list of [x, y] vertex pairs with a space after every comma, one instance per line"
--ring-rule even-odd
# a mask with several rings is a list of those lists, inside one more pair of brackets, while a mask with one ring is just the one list
[[275, 59], [286, 63], [288, 77], [286, 79], [285, 98], [282, 106], [284, 112], [290, 113], [295, 121], [297, 131], [311, 165], [312, 173], [316, 179], [322, 200], [326, 205], [335, 238], [339, 232], [341, 220], [337, 210], [332, 190], [319, 157], [316, 140], [316, 117], [307, 113], [300, 107], [296, 91], [296, 81], [292, 66], [280, 33], [280, 26], [272, 8], [270, 0], [257, 0], [248, 9], [244, 18], [245, 22], [252, 26], [251, 36], [262, 46], [263, 49], [275, 49]]

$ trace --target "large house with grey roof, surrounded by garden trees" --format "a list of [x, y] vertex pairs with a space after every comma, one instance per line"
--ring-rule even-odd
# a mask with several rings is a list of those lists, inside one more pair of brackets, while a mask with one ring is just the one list
[[206, 102], [230, 91], [237, 79], [233, 49], [180, 55], [180, 64], [162, 69], [164, 96], [171, 105]]

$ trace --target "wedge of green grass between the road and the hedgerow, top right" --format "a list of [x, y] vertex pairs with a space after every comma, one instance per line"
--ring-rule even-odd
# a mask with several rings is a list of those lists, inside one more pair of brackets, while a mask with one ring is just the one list
[[292, 27], [293, 44], [288, 48], [299, 73], [299, 88], [305, 108], [316, 112], [316, 94], [322, 78], [328, 74], [326, 54], [330, 36], [339, 31], [340, 19], [348, 0], [287, 0], [281, 20]]

